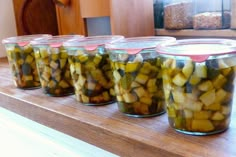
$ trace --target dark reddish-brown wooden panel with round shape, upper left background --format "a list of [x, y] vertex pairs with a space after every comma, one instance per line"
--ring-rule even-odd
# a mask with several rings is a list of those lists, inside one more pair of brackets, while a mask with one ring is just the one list
[[58, 35], [53, 0], [13, 0], [18, 35]]

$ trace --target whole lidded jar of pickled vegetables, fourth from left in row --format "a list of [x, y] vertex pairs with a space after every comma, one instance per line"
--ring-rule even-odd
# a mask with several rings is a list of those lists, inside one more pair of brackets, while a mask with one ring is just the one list
[[161, 60], [157, 44], [172, 37], [136, 37], [107, 44], [120, 112], [132, 117], [151, 117], [165, 112]]

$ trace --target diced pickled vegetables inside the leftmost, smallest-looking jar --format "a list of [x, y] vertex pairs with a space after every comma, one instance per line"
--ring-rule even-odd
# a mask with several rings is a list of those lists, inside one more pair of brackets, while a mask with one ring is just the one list
[[11, 45], [6, 47], [14, 84], [19, 88], [39, 88], [41, 86], [36, 68], [33, 48]]

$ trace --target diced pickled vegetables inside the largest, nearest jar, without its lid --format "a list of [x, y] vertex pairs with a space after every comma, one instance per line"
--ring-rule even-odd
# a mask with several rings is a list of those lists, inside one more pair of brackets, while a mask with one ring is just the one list
[[[223, 60], [194, 63], [162, 58], [163, 88], [169, 124], [177, 131], [207, 135], [226, 130], [229, 125], [234, 65], [220, 67]], [[235, 59], [235, 58], [233, 58]]]

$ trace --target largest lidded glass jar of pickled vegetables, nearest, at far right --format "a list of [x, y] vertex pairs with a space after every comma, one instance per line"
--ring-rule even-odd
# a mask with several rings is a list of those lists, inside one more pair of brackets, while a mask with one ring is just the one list
[[230, 124], [236, 41], [186, 39], [157, 47], [169, 124], [190, 135], [225, 131]]

